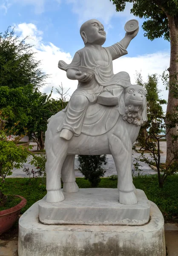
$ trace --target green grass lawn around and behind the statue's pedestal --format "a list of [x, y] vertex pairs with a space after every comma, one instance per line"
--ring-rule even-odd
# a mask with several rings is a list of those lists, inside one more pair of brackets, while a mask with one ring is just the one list
[[[79, 188], [91, 187], [89, 181], [84, 178], [76, 178], [76, 182]], [[159, 188], [156, 175], [134, 177], [133, 183], [137, 189], [144, 190], [149, 200], [157, 204], [165, 221], [178, 220], [178, 175], [167, 177], [163, 189]], [[101, 178], [98, 187], [117, 188], [117, 180]], [[29, 178], [6, 178], [1, 189], [6, 195], [21, 195], [27, 199], [21, 213], [46, 195], [46, 186], [40, 178], [34, 181]]]

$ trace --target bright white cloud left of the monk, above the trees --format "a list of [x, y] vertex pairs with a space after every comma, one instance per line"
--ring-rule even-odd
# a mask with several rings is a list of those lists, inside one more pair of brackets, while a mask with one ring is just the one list
[[77, 81], [67, 79], [66, 72], [57, 67], [59, 60], [63, 60], [66, 63], [72, 61], [70, 53], [61, 51], [60, 48], [52, 43], [44, 43], [43, 33], [32, 23], [21, 23], [16, 26], [15, 30], [20, 35], [20, 39], [29, 35], [30, 38], [26, 42], [34, 45], [33, 50], [36, 52], [37, 60], [41, 61], [43, 72], [51, 75], [47, 79], [49, 84], [41, 88], [41, 90], [49, 93], [52, 87], [54, 87], [52, 97], [57, 98], [58, 94], [55, 93], [55, 88], [58, 88], [62, 82], [65, 90], [70, 88], [69, 95], [72, 95], [73, 91], [77, 88]]

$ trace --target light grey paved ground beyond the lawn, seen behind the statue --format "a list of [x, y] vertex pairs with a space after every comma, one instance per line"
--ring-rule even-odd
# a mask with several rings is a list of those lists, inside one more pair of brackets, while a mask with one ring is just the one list
[[[33, 150], [37, 149], [37, 146], [34, 143], [30, 143], [31, 145], [33, 145]], [[166, 142], [160, 142], [161, 144], [161, 151], [163, 151], [163, 153], [161, 153], [161, 162], [165, 163], [166, 161]], [[149, 154], [145, 154], [148, 158], [150, 158]], [[139, 154], [138, 153], [134, 153], [133, 154], [133, 161], [135, 160], [135, 157], [138, 157]], [[116, 168], [115, 168], [115, 163], [114, 160], [112, 158], [112, 155], [107, 155], [108, 157], [108, 163], [109, 163], [109, 169], [106, 170], [105, 173], [105, 177], [113, 175], [113, 174], [117, 174], [116, 172]], [[32, 159], [32, 157], [29, 158], [28, 162], [25, 164], [26, 168], [30, 168], [32, 169], [32, 165], [29, 164], [30, 160]], [[141, 175], [152, 175], [155, 174], [156, 172], [154, 170], [152, 170], [146, 163], [140, 163], [141, 167], [140, 169], [141, 171]], [[136, 173], [135, 173], [136, 174]], [[75, 176], [76, 177], [83, 177], [83, 175], [79, 172], [79, 171], [75, 171]], [[28, 175], [26, 175], [25, 172], [23, 172], [23, 168], [21, 169], [13, 169], [13, 174], [11, 176], [8, 177], [28, 177]]]

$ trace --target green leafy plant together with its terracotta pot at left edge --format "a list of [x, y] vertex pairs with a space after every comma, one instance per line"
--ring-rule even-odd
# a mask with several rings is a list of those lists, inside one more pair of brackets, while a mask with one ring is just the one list
[[[16, 136], [15, 127], [6, 128], [7, 117], [0, 112], [0, 183], [5, 182], [13, 168], [20, 168], [29, 156], [28, 148], [17, 146], [23, 137]], [[20, 209], [26, 205], [26, 199], [19, 195], [4, 195], [0, 186], [0, 234], [7, 231], [17, 220]]]

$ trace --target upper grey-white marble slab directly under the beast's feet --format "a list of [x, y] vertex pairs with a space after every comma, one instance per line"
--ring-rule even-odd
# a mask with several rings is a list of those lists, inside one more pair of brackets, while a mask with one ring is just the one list
[[39, 202], [39, 219], [43, 224], [144, 225], [149, 221], [150, 204], [143, 190], [137, 189], [138, 203], [119, 204], [118, 189], [80, 189], [63, 192], [65, 200]]

